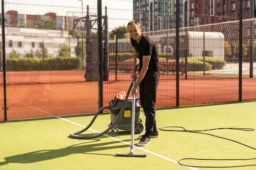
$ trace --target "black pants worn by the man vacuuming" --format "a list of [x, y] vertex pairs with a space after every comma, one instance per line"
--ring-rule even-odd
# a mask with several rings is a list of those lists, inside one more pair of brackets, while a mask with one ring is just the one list
[[139, 101], [145, 116], [145, 130], [156, 132], [156, 97], [160, 72], [146, 72], [143, 80], [139, 84]]

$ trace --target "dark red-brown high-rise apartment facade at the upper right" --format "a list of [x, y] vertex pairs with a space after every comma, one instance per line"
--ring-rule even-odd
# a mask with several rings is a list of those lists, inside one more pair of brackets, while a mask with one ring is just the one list
[[[243, 0], [243, 18], [256, 17], [256, 0]], [[239, 0], [188, 0], [189, 26], [239, 19]]]

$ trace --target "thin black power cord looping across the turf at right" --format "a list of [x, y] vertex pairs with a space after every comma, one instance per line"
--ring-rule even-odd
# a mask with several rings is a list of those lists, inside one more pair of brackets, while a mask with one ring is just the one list
[[[168, 129], [169, 128], [169, 129]], [[179, 128], [181, 130], [171, 130], [170, 128]], [[163, 128], [158, 128], [161, 131], [171, 131], [171, 132], [188, 132], [188, 133], [196, 133], [196, 134], [204, 134], [204, 135], [209, 135], [209, 136], [214, 136], [214, 137], [218, 137], [221, 139], [226, 139], [226, 140], [230, 140], [233, 142], [236, 142], [240, 145], [246, 146], [248, 148], [254, 149], [256, 150], [256, 148], [253, 148], [249, 145], [245, 145], [241, 142], [238, 142], [236, 140], [232, 140], [226, 137], [221, 137], [221, 136], [216, 136], [216, 135], [212, 135], [212, 134], [207, 134], [207, 133], [202, 133], [205, 131], [212, 131], [212, 130], [223, 130], [223, 129], [231, 129], [231, 130], [239, 130], [239, 131], [254, 131], [255, 129], [252, 128], [215, 128], [215, 129], [206, 129], [206, 130], [187, 130], [184, 127], [180, 127], [180, 126], [168, 126], [168, 127], [163, 127]], [[182, 166], [186, 166], [186, 167], [195, 167], [195, 168], [235, 168], [235, 167], [249, 167], [249, 166], [256, 166], [256, 164], [250, 164], [250, 165], [238, 165], [238, 166], [193, 166], [193, 165], [187, 165], [187, 164], [183, 164], [181, 163], [181, 161], [183, 160], [202, 160], [202, 161], [235, 161], [235, 160], [253, 160], [256, 158], [249, 158], [249, 159], [201, 159], [201, 158], [183, 158], [178, 160], [177, 162], [182, 165]]]

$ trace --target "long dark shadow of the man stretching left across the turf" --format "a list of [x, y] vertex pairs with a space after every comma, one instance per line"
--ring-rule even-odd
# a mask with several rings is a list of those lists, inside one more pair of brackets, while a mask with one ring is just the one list
[[[22, 154], [17, 154], [13, 156], [8, 156], [4, 158], [5, 159], [4, 162], [0, 162], [0, 166], [6, 165], [9, 163], [29, 164], [29, 163], [64, 157], [71, 154], [79, 154], [79, 153], [116, 156], [116, 154], [91, 153], [91, 152], [129, 147], [126, 144], [121, 144], [116, 146], [107, 146], [107, 145], [119, 144], [120, 143], [119, 141], [95, 143], [100, 141], [100, 139], [89, 139], [89, 140], [91, 141], [71, 145], [61, 149], [40, 150], [40, 151], [34, 151], [30, 153], [22, 153]], [[123, 140], [123, 141], [130, 141], [130, 140]]]

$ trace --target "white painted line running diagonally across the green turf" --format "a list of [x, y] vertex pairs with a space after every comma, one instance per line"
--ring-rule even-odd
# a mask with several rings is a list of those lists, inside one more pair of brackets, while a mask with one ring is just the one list
[[[78, 123], [75, 123], [75, 122], [73, 122], [73, 121], [70, 121], [70, 120], [68, 120], [68, 119], [64, 119], [64, 118], [61, 118], [61, 117], [57, 117], [57, 118], [62, 119], [62, 120], [65, 120], [65, 121], [67, 121], [67, 122], [70, 122], [70, 123], [73, 123], [73, 124], [75, 124], [75, 125], [78, 125], [78, 126], [80, 126], [80, 127], [85, 128], [85, 126], [83, 126], [83, 125], [81, 125], [81, 124], [78, 124]], [[89, 130], [90, 130], [90, 131], [93, 131], [93, 132], [95, 132], [95, 133], [100, 133], [100, 132], [98, 132], [98, 131], [96, 131], [96, 130], [94, 130], [94, 129], [91, 129], [91, 128], [89, 128]], [[120, 140], [120, 139], [118, 139], [118, 138], [116, 138], [116, 137], [112, 137], [112, 136], [109, 136], [109, 135], [106, 135], [106, 134], [104, 134], [104, 136], [110, 137], [110, 138], [112, 138], [112, 139], [114, 139], [114, 140], [117, 140], [117, 141], [119, 141], [119, 142], [121, 142], [121, 143], [125, 143], [126, 145], [131, 145], [130, 143], [125, 142], [125, 141], [123, 141], [123, 140]], [[155, 155], [155, 156], [158, 156], [158, 157], [160, 157], [160, 158], [163, 158], [163, 159], [165, 159], [165, 160], [168, 160], [168, 161], [171, 161], [171, 162], [174, 162], [174, 163], [178, 164], [178, 162], [177, 162], [176, 160], [170, 159], [170, 158], [165, 157], [165, 156], [163, 156], [163, 155], [160, 155], [160, 154], [158, 154], [158, 153], [154, 153], [154, 152], [152, 152], [152, 151], [143, 149], [143, 148], [141, 148], [141, 147], [137, 147], [137, 146], [134, 146], [134, 147], [137, 148], [137, 149], [139, 149], [139, 150], [141, 150], [141, 151], [144, 151], [144, 152], [147, 152], [147, 153], [151, 153], [151, 154], [153, 154], [153, 155]], [[193, 168], [193, 167], [186, 167], [186, 168], [191, 169], [191, 170], [198, 170], [198, 169]]]

